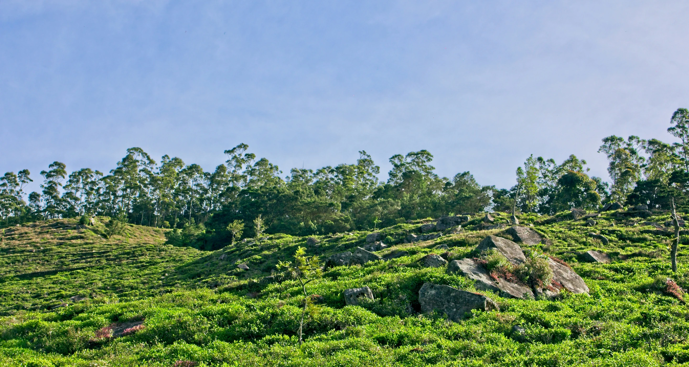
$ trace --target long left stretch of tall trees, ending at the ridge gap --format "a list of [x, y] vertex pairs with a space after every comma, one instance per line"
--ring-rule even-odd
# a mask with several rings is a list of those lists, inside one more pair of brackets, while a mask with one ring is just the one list
[[29, 171], [8, 172], [0, 178], [2, 225], [109, 216], [181, 229], [172, 240], [217, 249], [231, 240], [228, 223], [242, 221], [243, 233], [251, 236], [259, 215], [266, 233], [310, 235], [482, 211], [507, 200], [469, 172], [440, 178], [425, 150], [391, 157], [389, 180], [380, 182], [380, 167], [365, 151], [353, 164], [291, 169], [282, 178], [276, 165], [256, 159], [248, 148], [225, 151], [227, 160], [212, 172], [176, 157], [156, 162], [141, 148], [127, 149], [108, 175], [88, 168], [68, 174], [65, 164], [52, 162], [41, 171], [42, 191], [29, 193], [28, 203], [23, 190], [32, 181]]

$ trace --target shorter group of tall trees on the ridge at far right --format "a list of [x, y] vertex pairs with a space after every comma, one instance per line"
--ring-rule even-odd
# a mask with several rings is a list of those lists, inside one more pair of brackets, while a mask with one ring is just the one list
[[[680, 143], [629, 136], [603, 138], [599, 153], [608, 158], [611, 182], [586, 175], [586, 162], [570, 156], [562, 165], [554, 160], [529, 157], [517, 169], [522, 211], [555, 213], [578, 207], [597, 209], [601, 202], [648, 205], [670, 209], [675, 205], [689, 210], [689, 110], [672, 114], [668, 132]], [[515, 191], [513, 187], [511, 191]]]

